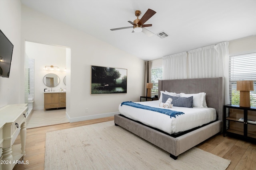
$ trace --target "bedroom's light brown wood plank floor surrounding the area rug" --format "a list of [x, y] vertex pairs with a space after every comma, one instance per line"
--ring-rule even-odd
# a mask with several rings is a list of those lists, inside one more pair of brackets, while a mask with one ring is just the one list
[[[111, 120], [114, 120], [114, 117], [27, 129], [25, 160], [28, 160], [29, 163], [18, 164], [14, 167], [14, 170], [44, 170], [45, 137], [47, 132]], [[20, 143], [20, 137], [16, 139], [15, 143]], [[222, 134], [219, 134], [204, 141], [197, 147], [231, 160], [227, 170], [256, 170], [255, 144], [223, 137]]]

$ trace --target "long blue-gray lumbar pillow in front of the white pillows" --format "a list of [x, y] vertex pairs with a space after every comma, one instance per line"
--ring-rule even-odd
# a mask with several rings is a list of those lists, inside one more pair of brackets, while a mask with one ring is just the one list
[[168, 98], [172, 98], [172, 105], [177, 106], [177, 107], [192, 107], [192, 102], [193, 102], [193, 96], [190, 96], [188, 98], [178, 98], [174, 96], [169, 96], [166, 94], [163, 94], [162, 102], [165, 103]]

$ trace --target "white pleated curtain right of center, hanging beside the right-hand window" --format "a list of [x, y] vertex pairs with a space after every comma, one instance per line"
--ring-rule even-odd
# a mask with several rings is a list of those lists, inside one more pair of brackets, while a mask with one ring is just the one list
[[228, 62], [228, 42], [188, 51], [188, 78], [225, 77], [225, 104], [229, 104]]

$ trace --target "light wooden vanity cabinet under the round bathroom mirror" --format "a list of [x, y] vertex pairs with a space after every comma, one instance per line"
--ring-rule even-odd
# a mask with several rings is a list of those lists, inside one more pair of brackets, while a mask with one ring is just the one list
[[66, 93], [44, 93], [44, 111], [59, 107], [66, 107]]

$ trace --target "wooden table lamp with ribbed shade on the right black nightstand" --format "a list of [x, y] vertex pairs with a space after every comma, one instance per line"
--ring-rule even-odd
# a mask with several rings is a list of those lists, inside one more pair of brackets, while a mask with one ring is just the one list
[[253, 91], [253, 81], [252, 80], [237, 81], [236, 90], [240, 91], [240, 107], [251, 107], [250, 91]]

